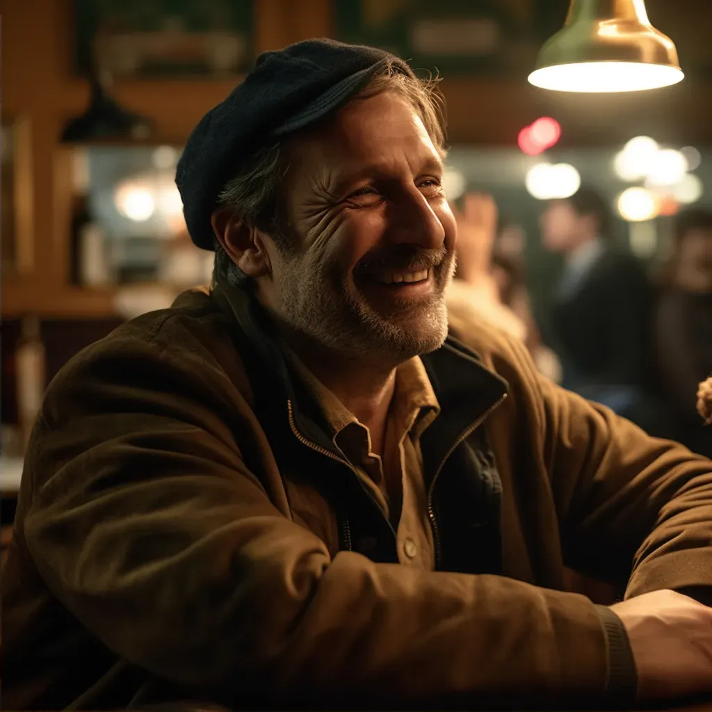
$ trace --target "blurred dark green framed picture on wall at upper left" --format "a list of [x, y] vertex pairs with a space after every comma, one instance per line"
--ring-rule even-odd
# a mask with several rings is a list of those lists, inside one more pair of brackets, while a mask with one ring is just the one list
[[234, 75], [251, 63], [254, 0], [75, 0], [76, 66], [115, 78]]

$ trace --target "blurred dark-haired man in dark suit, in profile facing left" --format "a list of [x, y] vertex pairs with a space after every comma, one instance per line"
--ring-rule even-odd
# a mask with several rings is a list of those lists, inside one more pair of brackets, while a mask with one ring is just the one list
[[542, 215], [543, 245], [565, 256], [553, 342], [565, 387], [649, 426], [650, 290], [639, 263], [609, 249], [609, 223], [607, 204], [588, 187]]

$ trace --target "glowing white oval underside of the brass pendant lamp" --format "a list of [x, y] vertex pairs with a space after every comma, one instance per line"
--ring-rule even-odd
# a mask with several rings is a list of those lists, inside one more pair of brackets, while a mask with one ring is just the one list
[[537, 69], [529, 75], [529, 82], [553, 91], [602, 93], [666, 87], [684, 76], [681, 70], [661, 64], [582, 62]]

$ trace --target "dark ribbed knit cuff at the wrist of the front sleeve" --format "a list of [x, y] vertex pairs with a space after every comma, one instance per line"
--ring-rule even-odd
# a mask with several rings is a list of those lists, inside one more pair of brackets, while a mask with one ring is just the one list
[[637, 700], [638, 674], [633, 651], [622, 620], [607, 606], [596, 606], [606, 634], [608, 679], [607, 706], [630, 708]]

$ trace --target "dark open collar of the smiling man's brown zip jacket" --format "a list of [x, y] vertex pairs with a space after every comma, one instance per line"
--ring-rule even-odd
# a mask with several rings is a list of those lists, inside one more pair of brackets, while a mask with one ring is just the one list
[[[211, 296], [238, 327], [235, 343], [253, 387], [258, 417], [272, 424], [291, 417], [300, 434], [337, 455], [318, 404], [300, 379], [290, 375], [266, 309], [246, 289], [216, 287]], [[451, 336], [421, 359], [441, 406], [421, 439], [424, 468], [434, 471], [461, 434], [505, 397], [508, 384]]]

